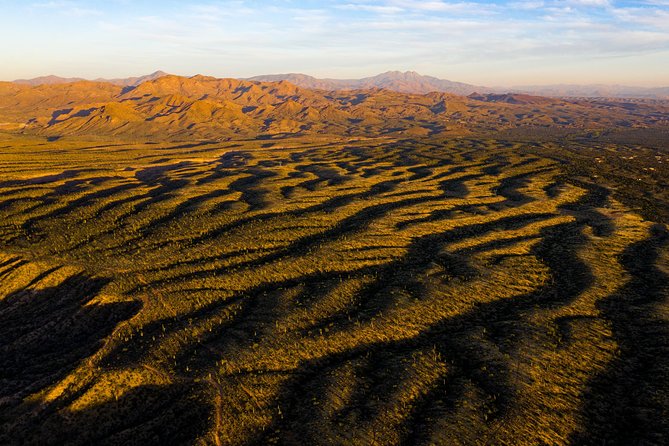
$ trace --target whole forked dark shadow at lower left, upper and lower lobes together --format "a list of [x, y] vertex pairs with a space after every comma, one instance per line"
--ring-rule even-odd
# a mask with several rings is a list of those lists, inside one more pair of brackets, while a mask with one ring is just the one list
[[193, 444], [205, 431], [209, 405], [198, 385], [140, 386], [76, 412], [65, 408], [69, 397], [24, 399], [63, 379], [140, 310], [91, 304], [107, 282], [76, 275], [0, 301], [0, 444]]

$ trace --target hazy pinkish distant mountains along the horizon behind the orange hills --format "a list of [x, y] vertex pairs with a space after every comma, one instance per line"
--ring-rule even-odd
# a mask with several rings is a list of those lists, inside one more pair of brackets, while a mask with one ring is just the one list
[[[108, 82], [114, 85], [134, 87], [142, 82], [154, 80], [167, 73], [156, 71], [146, 76], [120, 78], [120, 79], [95, 79], [95, 82]], [[18, 79], [15, 83], [26, 85], [53, 85], [82, 81], [82, 78], [64, 78], [58, 76], [42, 76], [34, 79]], [[463, 82], [454, 82], [439, 79], [432, 76], [424, 76], [415, 71], [388, 71], [376, 76], [362, 79], [319, 79], [301, 73], [269, 74], [254, 76], [243, 80], [259, 82], [288, 81], [302, 88], [342, 91], [381, 88], [400, 93], [426, 94], [431, 92], [452, 93], [458, 95], [469, 95], [472, 93], [523, 93], [549, 97], [580, 97], [580, 98], [645, 98], [645, 99], [669, 99], [669, 87], [645, 88], [625, 85], [526, 85], [510, 88], [485, 87], [471, 85]]]

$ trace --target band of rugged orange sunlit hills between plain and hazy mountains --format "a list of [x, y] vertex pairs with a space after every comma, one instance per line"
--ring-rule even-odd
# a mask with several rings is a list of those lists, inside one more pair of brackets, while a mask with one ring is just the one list
[[326, 91], [288, 81], [161, 75], [137, 86], [0, 82], [0, 130], [161, 139], [466, 135], [669, 126], [669, 103], [526, 94]]

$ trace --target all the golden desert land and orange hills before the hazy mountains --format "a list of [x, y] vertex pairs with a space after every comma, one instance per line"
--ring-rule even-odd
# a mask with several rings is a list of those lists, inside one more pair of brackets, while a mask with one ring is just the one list
[[669, 103], [0, 83], [0, 444], [669, 443]]

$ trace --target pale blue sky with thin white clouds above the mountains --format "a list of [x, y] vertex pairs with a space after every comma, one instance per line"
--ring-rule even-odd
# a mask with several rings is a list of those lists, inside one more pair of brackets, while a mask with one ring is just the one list
[[669, 0], [0, 0], [0, 80], [412, 70], [669, 86]]

